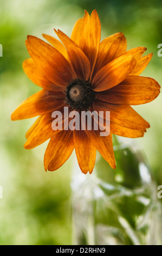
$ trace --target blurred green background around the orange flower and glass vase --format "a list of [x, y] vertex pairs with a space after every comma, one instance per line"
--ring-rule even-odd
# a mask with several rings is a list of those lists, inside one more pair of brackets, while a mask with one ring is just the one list
[[[34, 120], [10, 120], [11, 112], [40, 90], [22, 70], [23, 60], [29, 57], [25, 39], [28, 34], [41, 39], [42, 33], [55, 36], [54, 28], [70, 36], [84, 10], [91, 13], [96, 9], [101, 20], [101, 39], [123, 32], [128, 50], [147, 47], [146, 54], [153, 52], [153, 57], [142, 75], [162, 84], [162, 57], [157, 55], [157, 46], [162, 43], [161, 1], [0, 0], [0, 5], [0, 244], [70, 245], [73, 157], [59, 170], [44, 172], [43, 156], [48, 142], [33, 150], [23, 148], [25, 132]], [[144, 149], [158, 185], [162, 185], [161, 97], [134, 107], [151, 125], [145, 136], [135, 141]]]

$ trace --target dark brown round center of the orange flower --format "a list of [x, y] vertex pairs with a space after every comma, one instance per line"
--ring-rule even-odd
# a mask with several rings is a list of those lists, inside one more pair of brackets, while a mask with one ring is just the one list
[[80, 78], [72, 80], [67, 85], [65, 94], [66, 103], [77, 111], [88, 109], [95, 99], [92, 84]]

